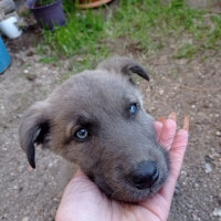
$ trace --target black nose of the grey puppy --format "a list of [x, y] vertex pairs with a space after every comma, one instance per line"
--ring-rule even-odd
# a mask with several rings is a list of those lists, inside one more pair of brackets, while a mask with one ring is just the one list
[[140, 162], [130, 173], [129, 180], [137, 189], [150, 188], [158, 179], [159, 171], [155, 161]]

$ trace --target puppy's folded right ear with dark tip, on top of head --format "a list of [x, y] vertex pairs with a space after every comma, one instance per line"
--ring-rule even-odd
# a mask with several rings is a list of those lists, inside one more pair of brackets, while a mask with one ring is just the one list
[[129, 81], [133, 82], [133, 73], [141, 76], [149, 81], [149, 75], [145, 69], [126, 56], [113, 56], [98, 64], [97, 70], [114, 71], [128, 76]]

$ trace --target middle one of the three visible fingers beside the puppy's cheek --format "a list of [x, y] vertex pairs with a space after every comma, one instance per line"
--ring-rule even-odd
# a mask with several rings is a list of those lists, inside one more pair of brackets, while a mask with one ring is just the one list
[[172, 114], [169, 117], [171, 118], [164, 122], [162, 130], [159, 137], [159, 144], [167, 150], [169, 150], [171, 147], [177, 129], [177, 123], [173, 120], [176, 119], [176, 115]]

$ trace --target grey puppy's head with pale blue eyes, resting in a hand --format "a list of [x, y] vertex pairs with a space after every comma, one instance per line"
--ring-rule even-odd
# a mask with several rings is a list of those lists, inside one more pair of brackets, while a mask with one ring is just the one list
[[34, 148], [42, 145], [78, 165], [113, 199], [137, 202], [157, 192], [168, 152], [156, 141], [133, 73], [149, 80], [139, 64], [115, 56], [31, 106], [19, 129], [29, 164], [35, 168]]

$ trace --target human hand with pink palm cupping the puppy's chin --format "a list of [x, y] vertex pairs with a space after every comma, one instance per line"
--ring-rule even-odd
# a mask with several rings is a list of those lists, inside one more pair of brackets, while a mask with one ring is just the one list
[[177, 131], [176, 114], [154, 123], [158, 143], [170, 156], [170, 172], [154, 197], [128, 204], [108, 199], [80, 169], [67, 185], [56, 212], [56, 221], [166, 221], [175, 186], [180, 173], [188, 144], [189, 118]]

